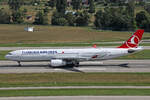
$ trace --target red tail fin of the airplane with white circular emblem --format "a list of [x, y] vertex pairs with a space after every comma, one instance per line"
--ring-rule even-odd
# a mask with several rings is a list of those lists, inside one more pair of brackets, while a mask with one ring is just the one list
[[142, 39], [144, 30], [137, 30], [128, 41], [126, 41], [122, 46], [118, 48], [136, 48], [139, 45], [139, 42]]

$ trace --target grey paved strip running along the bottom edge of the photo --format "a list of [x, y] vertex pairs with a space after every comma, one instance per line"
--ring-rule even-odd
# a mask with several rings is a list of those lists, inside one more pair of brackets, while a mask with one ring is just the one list
[[0, 100], [150, 100], [150, 96], [38, 96], [1, 97]]

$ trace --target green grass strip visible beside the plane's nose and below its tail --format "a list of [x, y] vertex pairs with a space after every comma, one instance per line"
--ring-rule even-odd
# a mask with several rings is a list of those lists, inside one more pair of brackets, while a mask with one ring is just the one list
[[[6, 60], [5, 55], [10, 51], [0, 51], [0, 60]], [[150, 59], [150, 50], [143, 50], [135, 54], [123, 56], [117, 59]]]

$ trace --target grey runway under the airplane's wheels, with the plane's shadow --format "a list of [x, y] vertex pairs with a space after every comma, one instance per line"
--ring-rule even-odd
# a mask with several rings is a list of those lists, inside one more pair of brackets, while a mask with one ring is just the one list
[[81, 62], [79, 67], [51, 68], [49, 62], [0, 61], [0, 73], [45, 73], [45, 72], [150, 72], [149, 60], [106, 60]]

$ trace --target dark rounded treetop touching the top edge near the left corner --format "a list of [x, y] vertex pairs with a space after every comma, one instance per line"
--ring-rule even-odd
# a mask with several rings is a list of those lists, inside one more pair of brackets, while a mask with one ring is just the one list
[[10, 9], [18, 11], [20, 7], [24, 4], [24, 0], [9, 0], [8, 5]]

